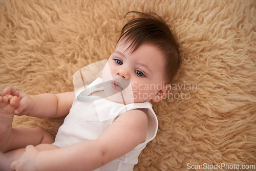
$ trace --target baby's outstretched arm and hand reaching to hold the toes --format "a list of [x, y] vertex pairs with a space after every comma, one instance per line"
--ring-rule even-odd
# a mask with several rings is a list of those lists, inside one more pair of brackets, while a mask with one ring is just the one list
[[75, 97], [74, 92], [29, 96], [15, 90], [13, 87], [7, 87], [2, 94], [19, 98], [19, 104], [13, 111], [15, 115], [38, 118], [56, 118], [68, 115]]

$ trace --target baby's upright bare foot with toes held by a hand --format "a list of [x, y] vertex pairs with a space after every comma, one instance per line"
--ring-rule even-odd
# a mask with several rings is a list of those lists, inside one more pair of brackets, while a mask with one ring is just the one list
[[0, 148], [11, 134], [13, 111], [18, 105], [17, 96], [0, 96]]

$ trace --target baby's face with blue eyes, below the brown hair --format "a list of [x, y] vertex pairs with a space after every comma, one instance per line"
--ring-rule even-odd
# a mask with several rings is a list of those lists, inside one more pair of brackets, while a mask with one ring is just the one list
[[[103, 70], [102, 81], [116, 80], [112, 84], [112, 89], [122, 91], [122, 98], [132, 99], [125, 100], [126, 104], [152, 99], [154, 101], [165, 84], [165, 59], [161, 51], [153, 45], [142, 44], [133, 53], [131, 49], [127, 49], [129, 45], [118, 43]], [[106, 71], [106, 68], [109, 71]], [[128, 87], [125, 81], [130, 82]], [[120, 99], [117, 100], [114, 96], [109, 99], [120, 102]]]

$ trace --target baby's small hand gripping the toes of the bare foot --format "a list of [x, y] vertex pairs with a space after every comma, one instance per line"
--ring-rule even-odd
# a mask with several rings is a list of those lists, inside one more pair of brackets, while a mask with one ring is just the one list
[[26, 93], [19, 92], [10, 86], [0, 92], [0, 108], [7, 113], [26, 115], [32, 107], [33, 99]]

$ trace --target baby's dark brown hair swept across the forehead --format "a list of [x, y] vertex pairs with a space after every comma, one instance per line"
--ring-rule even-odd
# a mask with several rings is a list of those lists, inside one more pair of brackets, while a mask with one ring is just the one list
[[138, 49], [143, 43], [149, 43], [159, 48], [166, 59], [165, 78], [167, 83], [172, 83], [181, 63], [179, 45], [174, 34], [164, 20], [157, 14], [145, 14], [136, 11], [131, 11], [127, 14], [129, 13], [137, 13], [141, 17], [132, 19], [125, 24], [118, 42], [120, 40], [124, 40], [125, 42], [131, 41], [129, 48], [132, 48], [132, 52]]

